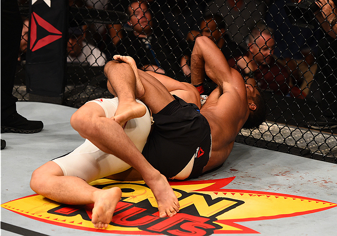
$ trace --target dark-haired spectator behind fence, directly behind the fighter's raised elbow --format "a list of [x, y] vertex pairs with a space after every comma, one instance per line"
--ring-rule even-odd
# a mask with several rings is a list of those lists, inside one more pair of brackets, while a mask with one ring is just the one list
[[184, 56], [180, 61], [180, 66], [182, 67], [186, 76], [190, 76], [191, 73], [190, 58], [194, 47], [194, 39], [200, 35], [212, 39], [213, 42], [217, 44], [218, 48], [221, 50], [227, 60], [232, 57], [242, 55], [246, 51], [242, 47], [238, 46], [235, 41], [230, 40], [229, 36], [225, 34], [226, 23], [220, 15], [205, 15], [202, 18], [199, 26], [201, 32], [193, 30], [186, 36], [186, 40], [190, 43], [190, 46], [184, 52]]

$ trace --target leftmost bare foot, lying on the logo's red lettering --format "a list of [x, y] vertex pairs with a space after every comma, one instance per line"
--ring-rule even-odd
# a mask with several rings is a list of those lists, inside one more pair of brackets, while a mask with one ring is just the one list
[[91, 222], [95, 228], [107, 228], [112, 220], [117, 203], [122, 196], [119, 187], [98, 190], [94, 193], [94, 208]]

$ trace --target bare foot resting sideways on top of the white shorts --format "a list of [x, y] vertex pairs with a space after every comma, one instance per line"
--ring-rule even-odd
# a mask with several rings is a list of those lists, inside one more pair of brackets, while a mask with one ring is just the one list
[[115, 116], [112, 117], [118, 124], [124, 124], [133, 118], [142, 117], [146, 114], [146, 107], [136, 101], [124, 101], [119, 103]]

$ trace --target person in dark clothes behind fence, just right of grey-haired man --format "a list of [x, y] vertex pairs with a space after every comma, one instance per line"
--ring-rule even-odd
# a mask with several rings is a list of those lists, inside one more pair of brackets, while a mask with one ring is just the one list
[[315, 57], [322, 32], [309, 27], [291, 25], [285, 9], [286, 3], [291, 2], [293, 0], [276, 0], [270, 3], [266, 22], [268, 27], [275, 29], [273, 36], [277, 47], [274, 56], [289, 68], [291, 73], [289, 83], [300, 86], [305, 97], [309, 93], [317, 70]]

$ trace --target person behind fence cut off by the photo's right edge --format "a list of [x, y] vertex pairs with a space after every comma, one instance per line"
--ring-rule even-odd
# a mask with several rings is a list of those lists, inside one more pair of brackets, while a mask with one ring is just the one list
[[315, 13], [316, 18], [327, 33], [326, 37], [319, 42], [321, 51], [317, 58], [318, 72], [314, 77], [321, 93], [318, 106], [322, 116], [316, 120], [309, 120], [308, 125], [320, 130], [337, 128], [337, 7], [335, 2], [316, 1], [320, 7], [320, 10]]

